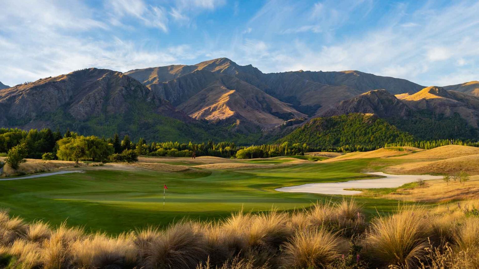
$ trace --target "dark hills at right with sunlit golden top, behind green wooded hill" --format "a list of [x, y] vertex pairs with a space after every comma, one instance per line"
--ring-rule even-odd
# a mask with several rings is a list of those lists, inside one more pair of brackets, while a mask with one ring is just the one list
[[475, 139], [478, 135], [479, 98], [440, 87], [392, 95], [373, 90], [341, 101], [320, 116], [373, 113], [420, 140]]

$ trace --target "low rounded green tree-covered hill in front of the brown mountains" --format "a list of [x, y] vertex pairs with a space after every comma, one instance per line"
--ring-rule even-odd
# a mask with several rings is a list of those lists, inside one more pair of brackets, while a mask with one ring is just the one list
[[305, 123], [278, 142], [306, 143], [312, 148], [327, 150], [370, 150], [386, 143], [412, 141], [412, 135], [372, 114], [318, 117]]

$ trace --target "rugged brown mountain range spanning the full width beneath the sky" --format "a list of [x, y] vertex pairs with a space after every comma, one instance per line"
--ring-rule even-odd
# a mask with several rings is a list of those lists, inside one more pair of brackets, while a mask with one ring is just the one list
[[0, 83], [0, 127], [118, 132], [157, 141], [271, 142], [312, 119], [350, 113], [374, 114], [421, 139], [477, 138], [479, 82], [424, 87], [354, 70], [262, 73], [218, 58]]

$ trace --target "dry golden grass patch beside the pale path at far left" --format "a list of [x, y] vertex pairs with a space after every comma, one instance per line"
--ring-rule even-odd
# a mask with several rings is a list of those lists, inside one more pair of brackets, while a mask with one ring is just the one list
[[[0, 157], [0, 161], [3, 161], [4, 157]], [[71, 168], [75, 167], [75, 162], [70, 161], [44, 161], [39, 159], [26, 159], [26, 163], [20, 164], [20, 168], [17, 170], [12, 169], [9, 164], [6, 164], [3, 168], [2, 177], [11, 177], [16, 175], [25, 175], [25, 174], [34, 174], [34, 173], [42, 173], [52, 170], [58, 170], [62, 168]], [[80, 167], [87, 167], [88, 165], [85, 163], [80, 162]]]

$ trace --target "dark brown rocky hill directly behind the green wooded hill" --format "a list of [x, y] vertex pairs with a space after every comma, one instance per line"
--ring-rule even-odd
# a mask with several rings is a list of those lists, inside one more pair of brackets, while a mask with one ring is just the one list
[[341, 101], [334, 108], [322, 112], [321, 115], [329, 117], [349, 113], [372, 113], [378, 117], [407, 117], [411, 115], [411, 109], [387, 90], [371, 90]]

